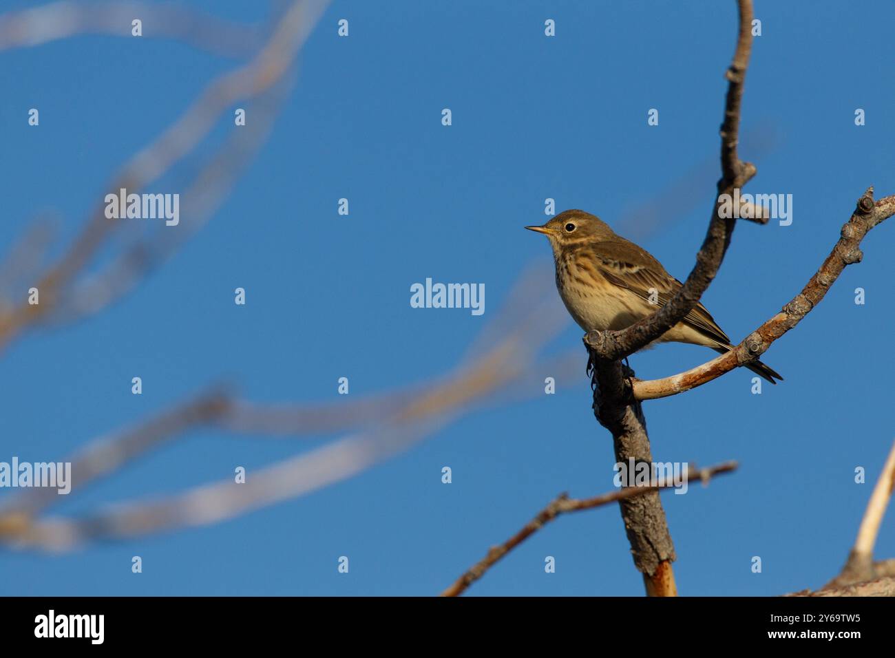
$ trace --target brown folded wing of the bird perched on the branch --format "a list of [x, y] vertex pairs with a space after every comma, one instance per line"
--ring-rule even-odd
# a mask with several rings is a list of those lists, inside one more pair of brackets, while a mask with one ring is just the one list
[[[641, 247], [622, 237], [603, 240], [593, 245], [592, 253], [601, 274], [616, 286], [627, 288], [647, 302], [656, 302], [664, 306], [683, 285], [672, 277], [661, 262], [657, 261]], [[652, 295], [652, 290], [656, 294]], [[712, 318], [702, 303], [697, 303], [683, 320], [694, 329], [703, 332], [707, 337], [729, 346], [730, 338]]]

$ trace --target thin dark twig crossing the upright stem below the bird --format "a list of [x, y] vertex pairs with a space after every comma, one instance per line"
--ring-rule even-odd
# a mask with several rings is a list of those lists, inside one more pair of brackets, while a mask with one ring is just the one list
[[[737, 462], [733, 461], [725, 462], [724, 464], [720, 464], [718, 466], [703, 468], [701, 470], [697, 470], [695, 466], [690, 466], [687, 469], [686, 482], [701, 480], [703, 484], [707, 484], [713, 476], [729, 473], [736, 469]], [[454, 584], [447, 587], [447, 589], [442, 592], [441, 595], [459, 596], [460, 594], [463, 594], [469, 587], [469, 585], [472, 585], [476, 580], [481, 578], [488, 569], [493, 567], [509, 551], [515, 549], [516, 546], [518, 546], [520, 543], [523, 543], [534, 533], [541, 530], [543, 526], [546, 526], [548, 523], [550, 523], [550, 521], [553, 521], [560, 514], [566, 514], [567, 512], [578, 512], [583, 509], [598, 508], [602, 505], [608, 505], [612, 502], [629, 500], [634, 498], [635, 496], [641, 496], [647, 492], [656, 492], [660, 491], [661, 489], [674, 487], [676, 485], [676, 483], [659, 481], [652, 484], [651, 486], [624, 487], [622, 489], [618, 489], [617, 491], [610, 491], [609, 493], [603, 493], [600, 496], [594, 496], [592, 498], [585, 499], [568, 498], [568, 495], [566, 493], [560, 493], [555, 499], [550, 501], [550, 504], [546, 508], [541, 509], [541, 511], [538, 512], [538, 514], [531, 521], [525, 524], [522, 530], [507, 539], [506, 542], [501, 543], [498, 546], [492, 546], [488, 551], [488, 554], [484, 558], [482, 558], [482, 560], [476, 562], [476, 564], [468, 571], [466, 571], [463, 576], [457, 578]]]

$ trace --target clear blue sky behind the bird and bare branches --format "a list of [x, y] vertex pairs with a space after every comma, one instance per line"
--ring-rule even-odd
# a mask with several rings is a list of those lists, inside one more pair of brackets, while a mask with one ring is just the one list
[[[190, 4], [250, 22], [270, 9]], [[30, 5], [10, 0], [4, 11]], [[763, 34], [746, 80], [740, 155], [759, 172], [747, 191], [791, 193], [794, 221], [737, 226], [703, 298], [735, 341], [796, 295], [868, 185], [878, 197], [895, 193], [895, 5], [867, 2], [856, 13], [834, 2], [759, 2], [756, 16]], [[337, 37], [342, 18], [348, 38]], [[548, 18], [554, 38], [543, 33]], [[349, 397], [437, 377], [521, 272], [550, 263], [546, 241], [523, 230], [546, 219], [548, 197], [557, 210], [585, 209], [619, 227], [677, 185], [657, 226], [625, 226], [683, 279], [720, 173], [735, 33], [732, 1], [332, 3], [270, 140], [209, 224], [107, 312], [30, 333], [4, 352], [0, 460], [63, 459], [222, 379], [254, 401], [338, 403], [339, 377], [350, 379]], [[62, 237], [76, 235], [116, 167], [234, 65], [149, 37], [71, 38], [0, 57], [4, 246], [48, 209]], [[30, 107], [40, 110], [38, 127], [27, 124]], [[647, 125], [650, 108], [658, 126]], [[695, 167], [704, 175], [681, 188]], [[342, 197], [348, 217], [337, 215]], [[781, 594], [823, 585], [844, 562], [895, 439], [895, 356], [884, 346], [895, 322], [891, 220], [862, 247], [864, 261], [765, 355], [786, 378], [779, 386], [753, 395], [751, 373], [737, 371], [646, 403], [657, 459], [741, 464], [707, 490], [664, 495], [681, 594]], [[427, 277], [485, 284], [485, 313], [410, 308], [410, 286]], [[236, 286], [245, 306], [233, 303]], [[579, 348], [580, 338], [569, 322], [550, 350]], [[64, 555], [3, 551], [0, 592], [437, 594], [559, 491], [611, 489], [611, 438], [593, 419], [581, 351], [580, 371], [556, 395], [465, 415], [302, 498]], [[653, 378], [712, 355], [661, 346], [632, 365]], [[131, 394], [137, 375], [141, 396]], [[528, 385], [549, 375], [534, 373]], [[181, 491], [235, 465], [251, 476], [328, 439], [192, 432], [53, 511]], [[442, 466], [453, 483], [441, 483]], [[854, 482], [857, 466], [868, 483]], [[142, 574], [132, 574], [133, 555]], [[348, 574], [337, 573], [342, 555]], [[544, 573], [547, 555], [554, 574]], [[761, 574], [750, 569], [756, 555]], [[890, 514], [877, 557], [893, 555]], [[470, 590], [641, 593], [616, 508], [559, 519]]]

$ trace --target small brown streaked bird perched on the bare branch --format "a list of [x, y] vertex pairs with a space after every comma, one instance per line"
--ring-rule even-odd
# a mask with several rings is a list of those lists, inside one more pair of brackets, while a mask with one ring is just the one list
[[[625, 329], [668, 303], [682, 285], [650, 252], [584, 210], [566, 210], [544, 226], [525, 228], [550, 239], [559, 296], [584, 331]], [[666, 341], [711, 347], [720, 354], [733, 349], [701, 303], [656, 342]], [[746, 368], [771, 384], [783, 379], [760, 361]]]

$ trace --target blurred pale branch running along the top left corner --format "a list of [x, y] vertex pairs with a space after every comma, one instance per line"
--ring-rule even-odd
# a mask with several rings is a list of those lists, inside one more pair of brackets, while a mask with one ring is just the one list
[[62, 0], [0, 16], [0, 52], [81, 35], [130, 38], [131, 21], [138, 18], [146, 38], [174, 38], [218, 56], [249, 55], [260, 38], [256, 26], [224, 21], [177, 4]]

